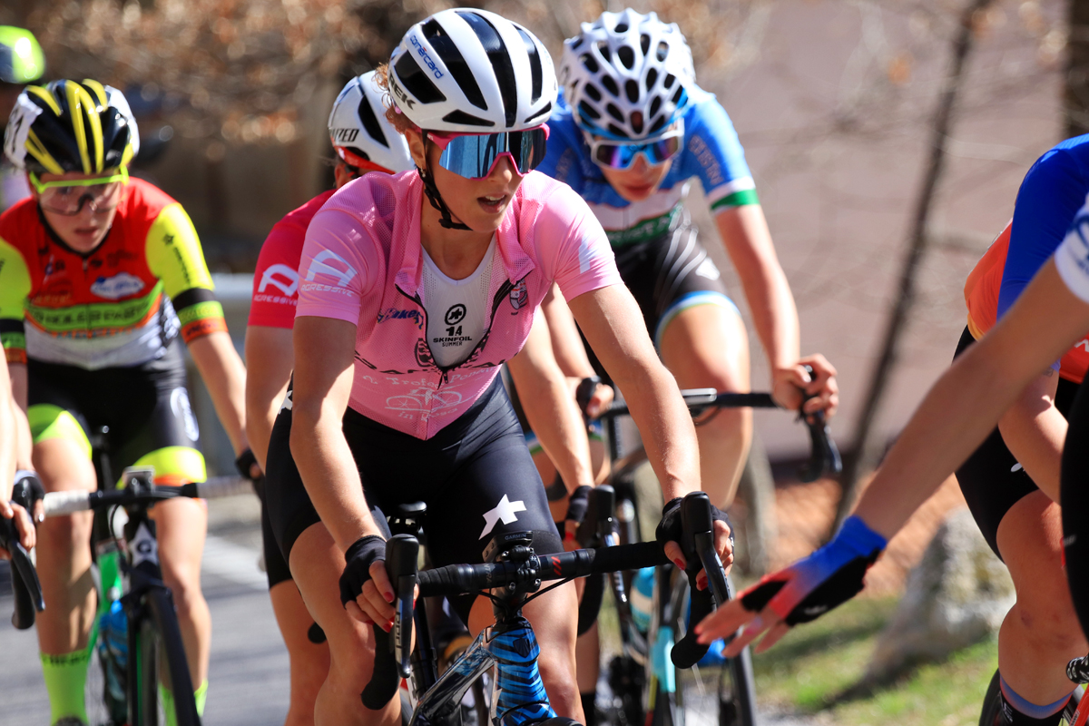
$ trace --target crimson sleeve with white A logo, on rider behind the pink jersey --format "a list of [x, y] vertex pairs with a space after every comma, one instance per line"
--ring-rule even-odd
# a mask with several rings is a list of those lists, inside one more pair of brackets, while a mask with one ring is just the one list
[[298, 209], [287, 212], [269, 232], [257, 257], [248, 324], [289, 330], [295, 324], [298, 258], [303, 254], [306, 227], [321, 209], [321, 205], [333, 196], [333, 192], [335, 189], [323, 192]]

